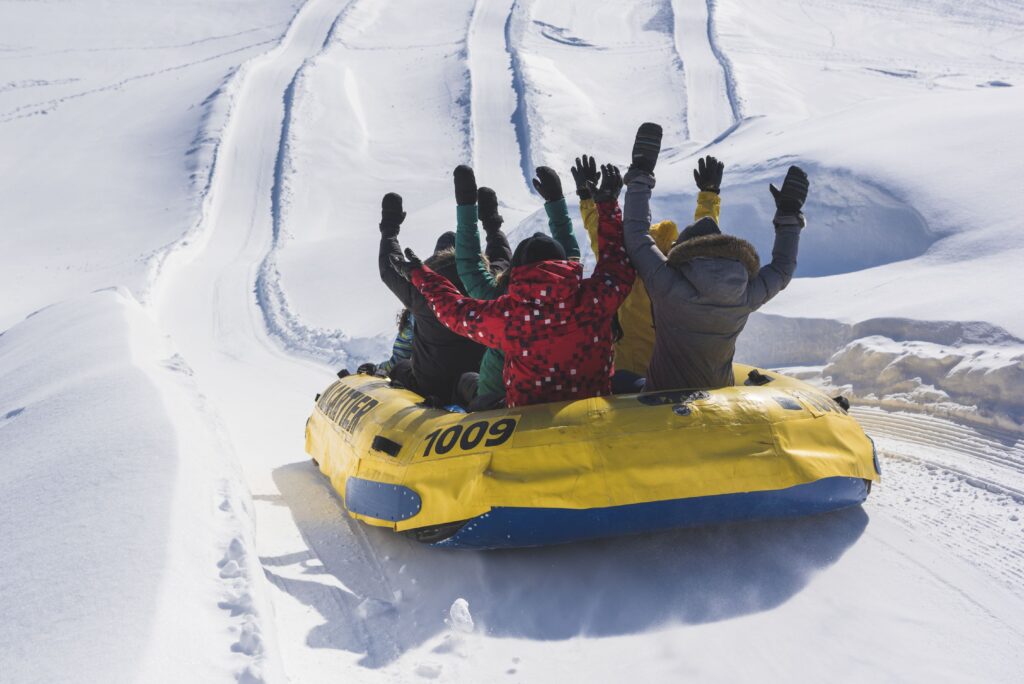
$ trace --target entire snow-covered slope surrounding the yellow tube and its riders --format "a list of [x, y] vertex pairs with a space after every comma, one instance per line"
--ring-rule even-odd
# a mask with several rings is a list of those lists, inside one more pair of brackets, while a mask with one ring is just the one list
[[[1018, 5], [66, 4], [0, 8], [0, 681], [1024, 672]], [[426, 251], [470, 163], [522, 234], [532, 166], [570, 191], [644, 120], [656, 212], [716, 154], [762, 254], [767, 182], [808, 169], [803, 276], [741, 350], [861, 397], [882, 485], [515, 552], [349, 520], [302, 427], [389, 345], [380, 197]]]

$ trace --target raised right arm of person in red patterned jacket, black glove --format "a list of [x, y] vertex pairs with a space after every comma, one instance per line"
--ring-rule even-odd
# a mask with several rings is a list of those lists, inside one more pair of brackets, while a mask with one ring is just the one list
[[623, 214], [618, 211], [618, 193], [623, 178], [618, 169], [608, 164], [601, 167], [601, 186], [593, 189], [597, 206], [597, 266], [584, 281], [586, 296], [611, 315], [618, 310], [636, 280], [636, 271], [626, 256], [623, 245]]

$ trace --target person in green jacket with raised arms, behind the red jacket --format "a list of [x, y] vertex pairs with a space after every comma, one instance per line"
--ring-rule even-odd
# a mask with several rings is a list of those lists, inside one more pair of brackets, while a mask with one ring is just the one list
[[[459, 277], [466, 288], [466, 294], [474, 299], [498, 299], [505, 294], [504, 277], [508, 264], [488, 263], [480, 249], [480, 234], [477, 221], [483, 224], [483, 231], [490, 244], [497, 236], [502, 236], [504, 219], [498, 213], [498, 196], [489, 187], [476, 187], [473, 169], [460, 165], [453, 173], [456, 197], [456, 241], [455, 259]], [[549, 167], [537, 169], [534, 187], [544, 198], [544, 210], [548, 214], [548, 229], [551, 237], [565, 250], [566, 258], [580, 260], [580, 245], [572, 232], [562, 182], [558, 174]], [[480, 361], [479, 374], [466, 373], [459, 382], [458, 395], [467, 399], [470, 411], [485, 411], [504, 405], [505, 385], [502, 370], [505, 355], [498, 349], [487, 349]], [[471, 400], [469, 397], [473, 397]]]

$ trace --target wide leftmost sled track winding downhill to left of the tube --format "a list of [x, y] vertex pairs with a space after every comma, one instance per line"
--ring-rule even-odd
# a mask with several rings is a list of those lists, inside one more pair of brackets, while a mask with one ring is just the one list
[[[300, 532], [294, 523], [267, 524], [274, 511], [259, 502], [281, 498], [267, 494], [273, 493], [267, 480], [275, 468], [300, 458], [301, 442], [295, 437], [301, 435], [301, 417], [313, 388], [330, 377], [328, 369], [303, 360], [302, 356], [316, 354], [300, 344], [294, 331], [285, 335], [273, 329], [266, 300], [254, 295], [254, 287], [258, 282], [262, 288], [280, 287], [269, 273], [275, 275], [282, 160], [297, 78], [323, 50], [330, 30], [349, 4], [308, 0], [280, 43], [243, 65], [223, 88], [220, 96], [228, 98], [227, 114], [212, 153], [201, 216], [164, 258], [155, 260], [151, 271], [155, 313], [195, 369], [209, 396], [209, 411], [219, 414], [217, 420], [225, 426], [230, 447], [244, 464], [248, 488], [257, 500], [255, 512], [262, 516], [262, 524], [256, 525], [251, 558], [297, 545]], [[252, 403], [260, 396], [265, 398]], [[261, 411], [266, 415], [258, 415]], [[298, 542], [298, 546], [315, 558], [310, 544]], [[366, 562], [372, 563], [372, 547], [365, 542], [361, 546]], [[268, 568], [264, 572], [276, 586], [285, 586]], [[387, 591], [384, 584], [371, 595]], [[260, 619], [295, 610], [294, 603], [271, 597], [276, 609], [261, 612]], [[301, 603], [301, 597], [294, 598]], [[283, 651], [306, 648], [304, 635], [294, 629], [269, 630], [274, 631]], [[375, 642], [375, 647], [382, 643]]]

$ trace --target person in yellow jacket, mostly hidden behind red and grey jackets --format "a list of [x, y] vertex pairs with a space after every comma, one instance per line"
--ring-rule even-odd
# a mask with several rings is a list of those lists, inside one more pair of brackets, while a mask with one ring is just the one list
[[[693, 178], [697, 183], [697, 207], [693, 212], [696, 223], [710, 218], [718, 223], [719, 209], [722, 199], [719, 190], [722, 185], [722, 172], [725, 165], [709, 155], [697, 161]], [[591, 249], [597, 249], [597, 205], [587, 189], [588, 181], [597, 183], [601, 173], [593, 157], [584, 155], [577, 158], [571, 169], [572, 178], [577, 183], [577, 195], [580, 196], [580, 213], [583, 214], [583, 224], [590, 238]], [[650, 234], [654, 238], [659, 250], [668, 254], [679, 239], [679, 227], [675, 221], [660, 221], [650, 226]], [[633, 292], [618, 307], [618, 326], [622, 337], [615, 342], [615, 370], [628, 371], [637, 376], [647, 375], [647, 364], [654, 350], [654, 320], [651, 315], [650, 297], [640, 279], [633, 285]], [[618, 391], [630, 391], [627, 386]], [[637, 390], [639, 391], [639, 390]]]

